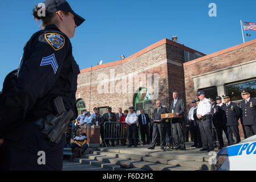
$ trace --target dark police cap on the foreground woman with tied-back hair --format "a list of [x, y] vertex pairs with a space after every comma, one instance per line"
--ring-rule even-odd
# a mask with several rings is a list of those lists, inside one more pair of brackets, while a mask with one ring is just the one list
[[84, 22], [84, 18], [76, 14], [70, 7], [67, 1], [65, 0], [46, 0], [43, 2], [46, 6], [46, 15], [55, 13], [57, 11], [67, 11], [72, 13], [75, 16], [76, 26], [79, 26]]

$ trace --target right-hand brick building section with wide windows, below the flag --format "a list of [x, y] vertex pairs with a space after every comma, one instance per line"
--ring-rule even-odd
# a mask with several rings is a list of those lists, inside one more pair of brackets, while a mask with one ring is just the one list
[[[231, 101], [236, 103], [242, 100], [243, 89], [251, 90], [251, 97], [256, 97], [256, 39], [188, 61], [183, 66], [187, 110], [190, 101], [197, 99], [198, 90], [204, 90], [206, 97], [230, 94]], [[243, 138], [241, 123], [239, 133]]]

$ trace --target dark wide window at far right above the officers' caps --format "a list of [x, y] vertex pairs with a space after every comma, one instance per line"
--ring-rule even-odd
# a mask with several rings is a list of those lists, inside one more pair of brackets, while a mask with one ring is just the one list
[[248, 90], [251, 97], [256, 97], [256, 80], [239, 82], [225, 86], [226, 94], [230, 94], [232, 101], [242, 100], [242, 90]]

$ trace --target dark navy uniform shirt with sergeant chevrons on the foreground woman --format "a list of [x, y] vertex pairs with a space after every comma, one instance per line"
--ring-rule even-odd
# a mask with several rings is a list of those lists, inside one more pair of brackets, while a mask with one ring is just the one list
[[[75, 93], [79, 66], [70, 39], [55, 25], [32, 35], [27, 42], [17, 77], [5, 80], [0, 97], [0, 138], [24, 122], [56, 114], [52, 101], [61, 96], [66, 110], [78, 111]], [[5, 92], [7, 90], [8, 92]], [[17, 133], [15, 134], [17, 135]]]

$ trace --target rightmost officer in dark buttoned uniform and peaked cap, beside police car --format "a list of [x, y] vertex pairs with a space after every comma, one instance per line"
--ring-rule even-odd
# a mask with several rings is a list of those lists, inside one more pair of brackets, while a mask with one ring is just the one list
[[243, 101], [241, 108], [243, 111], [243, 125], [245, 126], [246, 137], [256, 135], [256, 99], [251, 98], [249, 90], [243, 90]]

